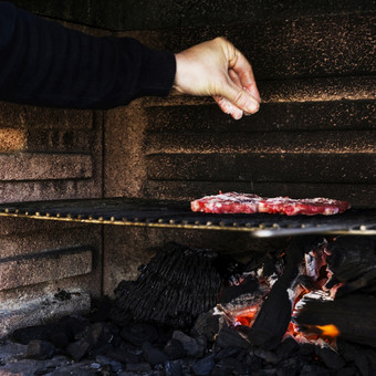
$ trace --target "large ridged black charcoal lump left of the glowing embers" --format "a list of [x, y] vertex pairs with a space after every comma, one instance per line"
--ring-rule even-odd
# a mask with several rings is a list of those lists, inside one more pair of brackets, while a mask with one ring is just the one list
[[137, 322], [191, 326], [197, 316], [217, 302], [221, 275], [218, 255], [209, 250], [168, 243], [133, 283], [121, 282], [115, 306]]

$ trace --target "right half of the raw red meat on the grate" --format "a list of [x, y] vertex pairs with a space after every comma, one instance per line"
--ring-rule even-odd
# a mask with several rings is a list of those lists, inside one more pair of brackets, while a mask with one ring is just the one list
[[290, 197], [275, 197], [260, 200], [259, 212], [280, 213], [286, 216], [331, 216], [344, 212], [351, 205], [330, 198], [303, 198], [292, 199]]

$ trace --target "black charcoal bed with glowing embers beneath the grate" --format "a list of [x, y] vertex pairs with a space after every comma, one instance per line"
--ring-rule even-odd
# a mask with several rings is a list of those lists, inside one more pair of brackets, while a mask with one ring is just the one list
[[247, 264], [169, 243], [91, 317], [17, 331], [0, 374], [374, 375], [375, 270], [365, 237], [294, 238]]

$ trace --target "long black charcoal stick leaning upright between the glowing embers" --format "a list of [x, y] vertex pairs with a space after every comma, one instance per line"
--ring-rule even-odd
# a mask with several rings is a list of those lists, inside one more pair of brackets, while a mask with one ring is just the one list
[[299, 264], [303, 260], [304, 250], [310, 249], [305, 246], [305, 242], [310, 244], [309, 240], [305, 240], [305, 237], [294, 238], [290, 243], [283, 274], [273, 284], [249, 332], [252, 344], [273, 349], [281, 343], [291, 320], [292, 303], [288, 290], [299, 275]]

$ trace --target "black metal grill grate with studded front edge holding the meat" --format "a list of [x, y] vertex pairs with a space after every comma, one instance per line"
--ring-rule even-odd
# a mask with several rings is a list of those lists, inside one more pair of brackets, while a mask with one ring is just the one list
[[187, 202], [87, 199], [0, 205], [0, 216], [84, 223], [176, 229], [247, 231], [253, 237], [314, 233], [376, 236], [376, 210], [352, 209], [336, 216], [209, 215]]

